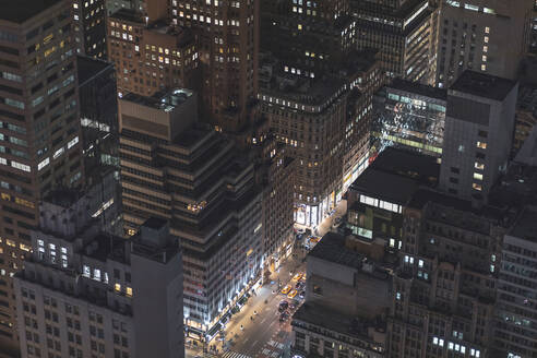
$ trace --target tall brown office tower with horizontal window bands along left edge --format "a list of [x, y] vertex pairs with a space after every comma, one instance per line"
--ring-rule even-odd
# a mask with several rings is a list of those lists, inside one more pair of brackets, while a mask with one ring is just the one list
[[11, 276], [29, 254], [37, 203], [83, 182], [72, 3], [0, 1], [0, 350], [19, 348]]

